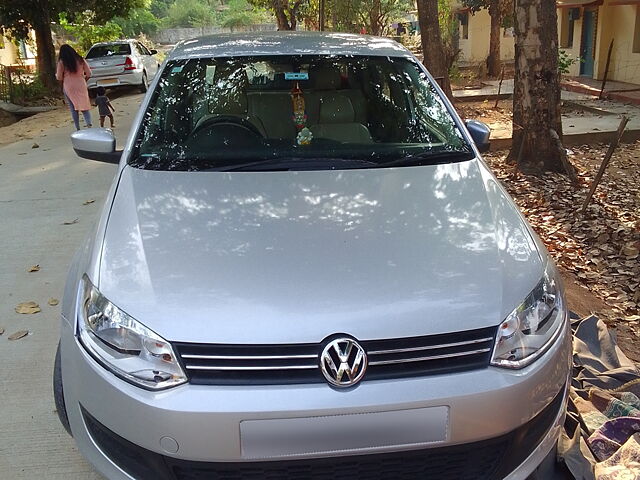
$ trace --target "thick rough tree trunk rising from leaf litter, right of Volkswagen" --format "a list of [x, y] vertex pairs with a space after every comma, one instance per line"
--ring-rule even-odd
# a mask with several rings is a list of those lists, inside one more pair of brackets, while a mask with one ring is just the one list
[[568, 173], [562, 163], [558, 29], [554, 0], [516, 0], [513, 140], [509, 159], [526, 173]]

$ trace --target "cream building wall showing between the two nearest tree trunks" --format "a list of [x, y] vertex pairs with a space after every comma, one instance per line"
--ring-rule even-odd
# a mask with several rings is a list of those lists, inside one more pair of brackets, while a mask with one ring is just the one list
[[[463, 37], [463, 27], [460, 25], [460, 59], [466, 62], [484, 62], [489, 56], [489, 36], [491, 34], [491, 17], [486, 9], [475, 14], [469, 14], [469, 28], [467, 39]], [[505, 33], [507, 35], [505, 36]], [[509, 61], [514, 59], [514, 38], [500, 29], [500, 59]]]

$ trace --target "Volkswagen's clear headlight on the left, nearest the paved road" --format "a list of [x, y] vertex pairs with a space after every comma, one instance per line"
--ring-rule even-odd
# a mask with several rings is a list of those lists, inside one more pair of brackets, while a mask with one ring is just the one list
[[89, 278], [81, 282], [78, 337], [105, 368], [148, 390], [187, 381], [171, 344], [107, 300]]

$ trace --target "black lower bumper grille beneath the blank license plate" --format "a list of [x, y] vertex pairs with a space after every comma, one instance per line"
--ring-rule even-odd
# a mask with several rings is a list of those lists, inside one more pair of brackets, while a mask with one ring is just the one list
[[528, 423], [479, 442], [269, 462], [195, 462], [160, 455], [112, 432], [82, 406], [81, 411], [100, 450], [139, 480], [499, 480], [520, 465], [542, 441], [564, 408], [563, 393], [564, 389]]

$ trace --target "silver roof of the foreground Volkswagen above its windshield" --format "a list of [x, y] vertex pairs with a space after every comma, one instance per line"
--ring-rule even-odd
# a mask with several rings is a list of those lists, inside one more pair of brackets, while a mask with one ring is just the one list
[[328, 32], [255, 32], [208, 35], [178, 43], [169, 60], [252, 55], [367, 55], [411, 57], [385, 37]]

